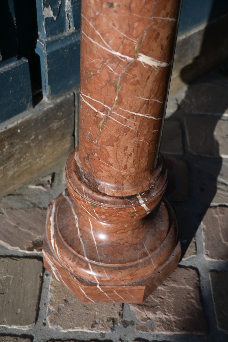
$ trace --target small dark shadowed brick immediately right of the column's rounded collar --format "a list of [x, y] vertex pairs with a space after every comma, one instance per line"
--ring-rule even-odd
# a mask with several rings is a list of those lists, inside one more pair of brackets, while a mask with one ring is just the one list
[[187, 164], [176, 158], [165, 158], [169, 169], [169, 181], [165, 196], [169, 200], [184, 201], [189, 195], [189, 176]]

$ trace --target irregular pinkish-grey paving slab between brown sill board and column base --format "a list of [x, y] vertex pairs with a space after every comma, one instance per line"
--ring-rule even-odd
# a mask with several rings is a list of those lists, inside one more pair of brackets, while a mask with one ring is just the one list
[[0, 251], [41, 254], [47, 207], [66, 188], [65, 162], [50, 171], [0, 199]]

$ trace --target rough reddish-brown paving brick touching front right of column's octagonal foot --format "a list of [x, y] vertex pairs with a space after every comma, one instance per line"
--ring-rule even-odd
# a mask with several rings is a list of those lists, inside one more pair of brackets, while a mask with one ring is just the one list
[[177, 268], [142, 304], [131, 304], [136, 330], [205, 334], [206, 323], [195, 270]]

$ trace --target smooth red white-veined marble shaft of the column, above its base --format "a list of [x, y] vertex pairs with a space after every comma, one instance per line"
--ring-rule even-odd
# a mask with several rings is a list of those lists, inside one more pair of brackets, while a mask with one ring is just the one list
[[76, 160], [102, 193], [138, 194], [159, 176], [179, 8], [180, 0], [82, 1]]

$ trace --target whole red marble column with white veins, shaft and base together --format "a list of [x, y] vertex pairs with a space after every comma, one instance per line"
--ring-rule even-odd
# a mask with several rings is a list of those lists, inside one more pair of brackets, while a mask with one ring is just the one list
[[142, 302], [177, 267], [159, 152], [180, 0], [82, 0], [79, 146], [44, 265], [81, 301]]

